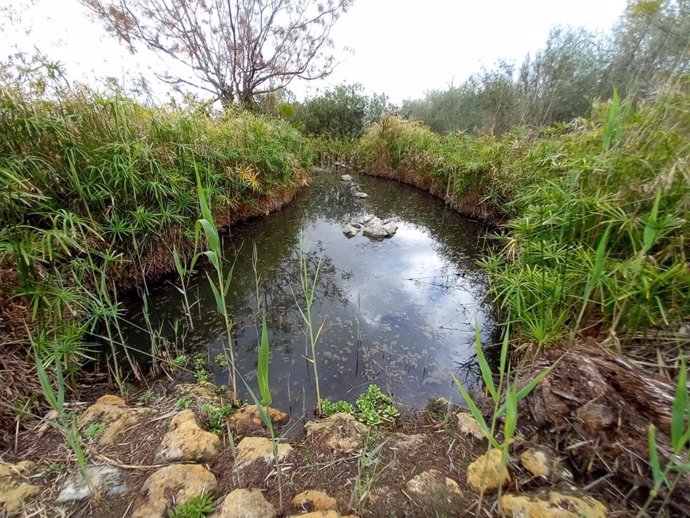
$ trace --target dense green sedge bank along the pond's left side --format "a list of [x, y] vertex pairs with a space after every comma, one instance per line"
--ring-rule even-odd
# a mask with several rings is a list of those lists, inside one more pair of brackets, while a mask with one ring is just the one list
[[115, 325], [116, 288], [192, 254], [197, 175], [222, 228], [289, 201], [311, 167], [280, 121], [92, 91], [55, 101], [3, 88], [0, 134], [0, 356], [20, 385], [35, 376], [8, 367], [10, 351], [33, 360], [33, 345], [76, 372], [85, 335]]

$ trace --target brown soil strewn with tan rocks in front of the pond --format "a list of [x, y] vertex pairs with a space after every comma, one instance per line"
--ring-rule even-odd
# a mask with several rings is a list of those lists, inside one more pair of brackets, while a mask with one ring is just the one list
[[[219, 423], [209, 408], [226, 401], [210, 383], [159, 387], [150, 399], [74, 405], [86, 441], [81, 469], [46, 423], [19, 433], [0, 464], [4, 513], [203, 516], [174, 509], [207, 493], [218, 518], [626, 515], [579, 490], [545, 446], [519, 439], [503, 467], [470, 414], [443, 402], [394, 426], [335, 414], [274, 443], [254, 406]], [[276, 430], [290, 427], [286, 414], [270, 416]]]

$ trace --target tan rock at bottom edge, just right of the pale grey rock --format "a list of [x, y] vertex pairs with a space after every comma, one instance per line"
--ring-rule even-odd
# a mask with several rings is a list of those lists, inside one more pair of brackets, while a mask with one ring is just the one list
[[184, 504], [205, 492], [218, 489], [216, 477], [199, 464], [173, 464], [146, 479], [142, 499], [132, 518], [163, 518], [169, 507]]

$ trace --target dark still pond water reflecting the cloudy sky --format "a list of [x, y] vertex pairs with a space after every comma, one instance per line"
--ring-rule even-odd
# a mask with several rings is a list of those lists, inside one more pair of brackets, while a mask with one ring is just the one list
[[[358, 199], [357, 191], [369, 197]], [[361, 234], [345, 237], [343, 224], [365, 214], [393, 218], [397, 234], [383, 241]], [[311, 187], [282, 211], [234, 227], [225, 237], [227, 257], [236, 258], [230, 305], [239, 372], [256, 388], [255, 244], [259, 305], [270, 329], [273, 404], [293, 417], [311, 415], [315, 386], [295, 303], [295, 297], [303, 303], [301, 247], [312, 275], [322, 260], [313, 307], [316, 325], [325, 320], [317, 346], [322, 397], [354, 402], [376, 383], [403, 406], [422, 407], [435, 395], [457, 401], [452, 375], [469, 385], [477, 382], [475, 321], [483, 340], [494, 329], [486, 276], [476, 265], [485, 232], [483, 225], [412, 187], [366, 176], [346, 183], [334, 173], [315, 174]], [[181, 296], [172, 281], [152, 289], [154, 328], [204, 352], [216, 382], [227, 383], [227, 370], [213, 361], [222, 353], [225, 334], [206, 279], [198, 277], [189, 291], [196, 302], [193, 329], [185, 328]], [[136, 309], [130, 318], [143, 323]], [[127, 340], [137, 348], [149, 344], [134, 329]]]

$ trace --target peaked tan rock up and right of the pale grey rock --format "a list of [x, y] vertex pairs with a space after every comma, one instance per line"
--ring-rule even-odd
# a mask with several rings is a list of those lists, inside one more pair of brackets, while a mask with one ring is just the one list
[[191, 410], [180, 412], [168, 427], [156, 450], [155, 461], [209, 462], [220, 452], [220, 439], [215, 433], [202, 429]]

